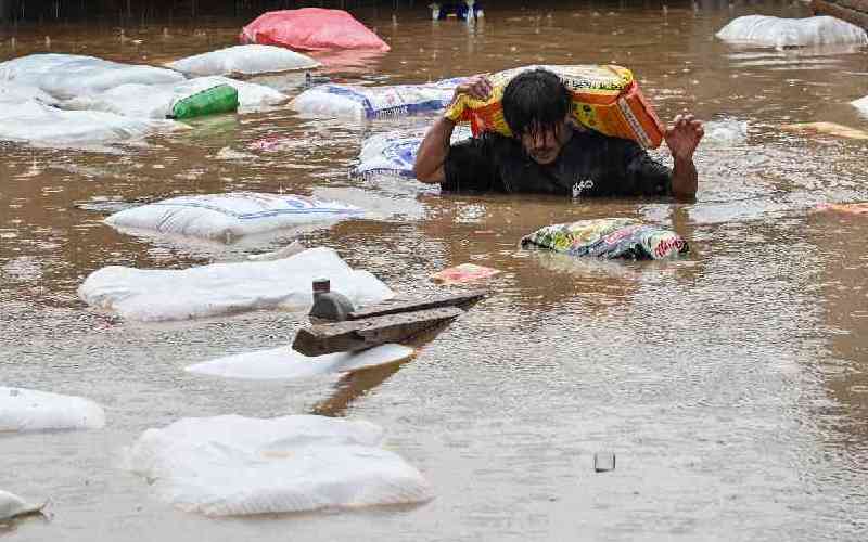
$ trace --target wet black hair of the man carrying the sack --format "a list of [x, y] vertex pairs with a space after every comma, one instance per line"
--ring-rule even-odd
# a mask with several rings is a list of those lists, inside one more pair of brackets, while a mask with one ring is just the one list
[[503, 118], [516, 137], [548, 132], [570, 112], [570, 91], [548, 69], [536, 68], [515, 76], [503, 89]]

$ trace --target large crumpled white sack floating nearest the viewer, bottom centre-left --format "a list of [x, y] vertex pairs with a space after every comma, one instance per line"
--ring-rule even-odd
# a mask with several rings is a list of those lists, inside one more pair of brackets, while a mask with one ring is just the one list
[[144, 431], [124, 463], [163, 501], [206, 516], [430, 500], [419, 470], [379, 448], [382, 438], [371, 423], [324, 416], [182, 418]]

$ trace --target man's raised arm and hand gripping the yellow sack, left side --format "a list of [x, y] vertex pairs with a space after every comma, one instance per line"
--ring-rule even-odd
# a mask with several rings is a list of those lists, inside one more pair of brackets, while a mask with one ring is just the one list
[[[455, 96], [470, 94], [478, 100], [487, 100], [492, 94], [492, 82], [485, 76], [474, 76], [455, 89]], [[419, 145], [413, 164], [413, 173], [422, 182], [430, 184], [444, 182], [446, 171], [443, 164], [449, 155], [449, 140], [452, 138], [455, 122], [446, 117], [437, 120], [425, 133], [425, 139]]]

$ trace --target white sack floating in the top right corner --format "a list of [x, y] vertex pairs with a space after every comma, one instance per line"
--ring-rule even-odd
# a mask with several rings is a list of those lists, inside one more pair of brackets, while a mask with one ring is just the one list
[[825, 15], [807, 18], [745, 15], [730, 21], [716, 36], [724, 41], [776, 48], [868, 43], [868, 35], [858, 26]]

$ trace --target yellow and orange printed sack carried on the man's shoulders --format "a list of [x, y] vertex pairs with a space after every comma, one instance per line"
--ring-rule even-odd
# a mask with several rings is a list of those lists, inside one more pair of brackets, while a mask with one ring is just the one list
[[503, 90], [516, 75], [534, 68], [557, 74], [570, 90], [573, 116], [582, 125], [607, 136], [630, 139], [646, 149], [663, 141], [663, 125], [646, 100], [633, 73], [621, 66], [526, 66], [489, 76], [494, 89], [488, 100], [460, 95], [446, 111], [456, 122], [470, 122], [474, 134], [490, 130], [512, 136], [503, 118]]

